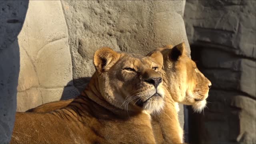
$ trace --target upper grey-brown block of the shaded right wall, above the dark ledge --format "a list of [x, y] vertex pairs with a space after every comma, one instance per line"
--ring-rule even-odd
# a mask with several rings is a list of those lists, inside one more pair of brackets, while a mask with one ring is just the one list
[[256, 58], [256, 1], [187, 1], [184, 20], [190, 43], [209, 44]]

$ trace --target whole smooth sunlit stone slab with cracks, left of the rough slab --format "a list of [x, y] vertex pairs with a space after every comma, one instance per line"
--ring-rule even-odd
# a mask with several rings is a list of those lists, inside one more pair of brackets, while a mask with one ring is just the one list
[[[75, 88], [68, 29], [60, 1], [31, 1], [18, 42], [17, 111], [23, 112], [46, 102], [77, 95], [68, 92]], [[67, 95], [62, 94], [64, 87], [68, 88]]]

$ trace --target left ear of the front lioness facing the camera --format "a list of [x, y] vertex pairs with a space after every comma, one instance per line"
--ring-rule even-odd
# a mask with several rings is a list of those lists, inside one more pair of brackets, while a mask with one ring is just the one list
[[109, 66], [110, 62], [118, 58], [118, 53], [111, 48], [100, 48], [94, 54], [93, 62], [96, 70], [100, 73], [104, 72]]

